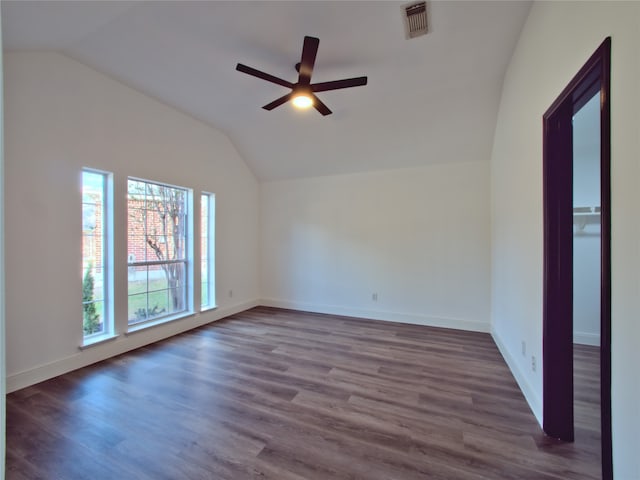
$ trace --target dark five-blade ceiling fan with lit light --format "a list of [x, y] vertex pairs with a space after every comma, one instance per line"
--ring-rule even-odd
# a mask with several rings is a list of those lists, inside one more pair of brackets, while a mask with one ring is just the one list
[[329, 107], [322, 103], [315, 94], [317, 92], [326, 92], [327, 90], [338, 90], [341, 88], [366, 85], [367, 77], [346, 78], [344, 80], [334, 80], [333, 82], [311, 83], [311, 75], [313, 74], [313, 65], [316, 62], [318, 45], [320, 45], [319, 39], [315, 37], [304, 37], [302, 58], [300, 59], [300, 63], [296, 64], [296, 70], [298, 71], [298, 81], [296, 83], [287, 82], [286, 80], [261, 72], [255, 68], [247, 67], [241, 63], [236, 66], [236, 70], [291, 89], [290, 93], [287, 93], [286, 95], [262, 107], [265, 110], [273, 110], [274, 108], [291, 100], [298, 108], [314, 107], [322, 115], [330, 115], [331, 110], [329, 110]]

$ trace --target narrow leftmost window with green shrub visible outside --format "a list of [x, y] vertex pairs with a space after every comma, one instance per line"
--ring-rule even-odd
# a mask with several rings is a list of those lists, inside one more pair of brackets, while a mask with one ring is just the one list
[[82, 171], [82, 318], [84, 343], [113, 332], [110, 308], [110, 175]]

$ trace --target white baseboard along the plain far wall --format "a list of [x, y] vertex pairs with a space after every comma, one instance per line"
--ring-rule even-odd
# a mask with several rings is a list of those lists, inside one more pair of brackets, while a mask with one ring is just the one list
[[327, 313], [331, 315], [342, 315], [345, 317], [368, 318], [372, 320], [384, 320], [387, 322], [397, 323], [411, 323], [414, 325], [425, 325], [429, 327], [454, 328], [456, 330], [467, 330], [483, 333], [490, 332], [489, 323], [477, 322], [473, 320], [461, 320], [456, 318], [440, 318], [427, 315], [341, 307], [337, 305], [319, 305], [291, 302], [287, 300], [278, 300], [275, 298], [263, 298], [262, 300], [260, 300], [260, 305], [265, 307], [300, 310], [303, 312]]

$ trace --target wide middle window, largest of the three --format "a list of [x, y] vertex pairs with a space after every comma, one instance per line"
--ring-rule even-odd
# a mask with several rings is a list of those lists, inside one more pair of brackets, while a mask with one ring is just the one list
[[128, 181], [129, 325], [190, 308], [189, 205], [185, 188]]

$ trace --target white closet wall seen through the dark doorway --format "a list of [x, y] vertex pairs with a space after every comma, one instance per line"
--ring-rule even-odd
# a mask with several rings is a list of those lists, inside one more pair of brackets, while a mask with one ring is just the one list
[[[573, 206], [600, 206], [600, 94], [573, 116]], [[600, 223], [574, 221], [573, 341], [600, 345]]]

